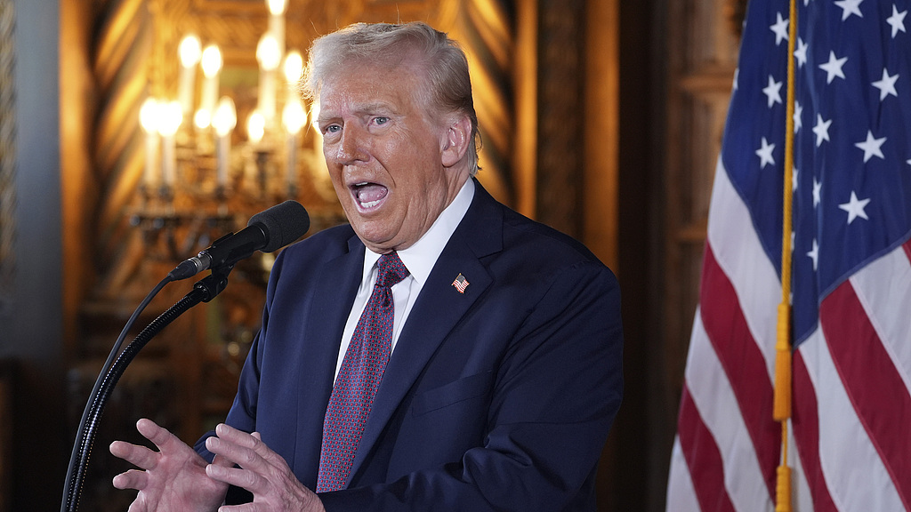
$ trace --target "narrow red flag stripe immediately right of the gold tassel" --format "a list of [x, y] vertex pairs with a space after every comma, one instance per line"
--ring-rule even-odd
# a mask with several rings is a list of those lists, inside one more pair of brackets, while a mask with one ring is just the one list
[[819, 461], [819, 404], [810, 374], [806, 371], [800, 351], [793, 355], [793, 428], [794, 442], [800, 454], [814, 512], [838, 512], [825, 484], [823, 467]]

